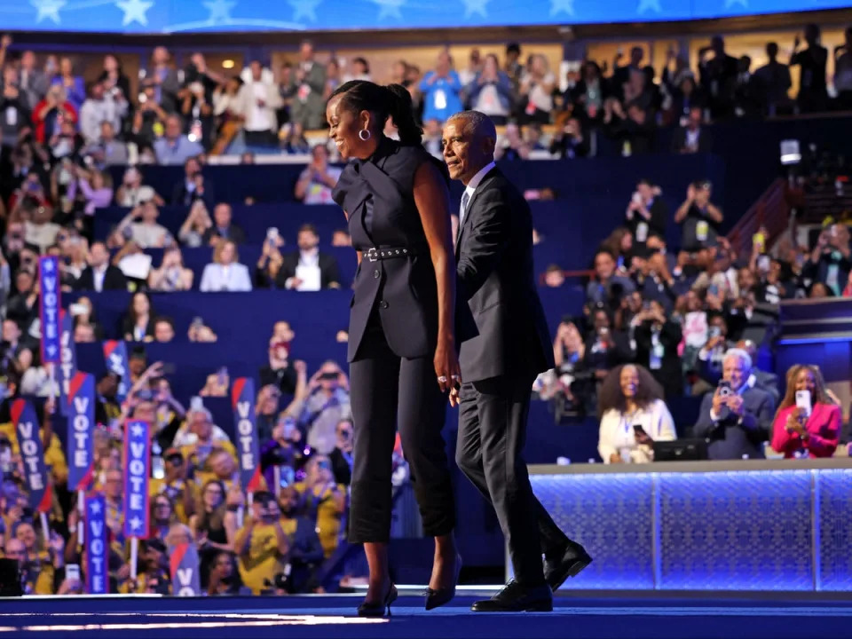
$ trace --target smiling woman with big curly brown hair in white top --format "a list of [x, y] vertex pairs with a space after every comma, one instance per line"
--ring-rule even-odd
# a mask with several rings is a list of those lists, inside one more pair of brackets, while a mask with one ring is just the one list
[[653, 461], [653, 443], [677, 438], [663, 390], [644, 367], [614, 369], [598, 390], [597, 452], [604, 463]]

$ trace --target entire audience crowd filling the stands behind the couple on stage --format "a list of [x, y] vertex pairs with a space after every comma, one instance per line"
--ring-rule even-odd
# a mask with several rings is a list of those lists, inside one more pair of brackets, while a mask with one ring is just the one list
[[[761, 117], [798, 110], [848, 106], [852, 95], [852, 31], [846, 48], [834, 51], [838, 97], [830, 100], [825, 52], [818, 29], [806, 29], [789, 65], [808, 70], [795, 99], [788, 96], [788, 65], [770, 43], [769, 65], [750, 70], [750, 60], [725, 52], [722, 38], [701, 51], [698, 75], [673, 52], [658, 83], [643, 65], [641, 49], [629, 62], [618, 59], [611, 74], [587, 61], [557, 90], [556, 75], [539, 54], [524, 62], [509, 45], [505, 59], [477, 51], [461, 70], [443, 51], [436, 67], [422, 73], [403, 61], [390, 78], [411, 91], [426, 130], [424, 144], [440, 154], [441, 123], [462, 108], [476, 108], [505, 125], [498, 152], [524, 159], [533, 151], [564, 158], [592, 154], [589, 133], [600, 131], [630, 153], [651, 150], [655, 130], [675, 126], [672, 151], [706, 151], [712, 139], [706, 122]], [[233, 438], [214, 423], [205, 398], [227, 397], [226, 367], [210, 374], [185, 407], [172, 395], [161, 362], [150, 364], [145, 343], [170, 343], [185, 329], [191, 342], [212, 343], [216, 333], [196, 318], [188, 327], [159, 315], [150, 292], [300, 291], [340, 288], [334, 256], [319, 248], [315, 227], [298, 232], [297, 248], [283, 251], [269, 233], [257, 263], [240, 263], [246, 241], [231, 204], [216, 197], [217, 185], [203, 175], [208, 154], [234, 148], [274, 148], [310, 153], [298, 178], [296, 198], [328, 203], [340, 170], [329, 164], [326, 146], [311, 146], [305, 131], [325, 126], [324, 105], [340, 83], [370, 77], [366, 59], [352, 60], [346, 73], [331, 60], [320, 64], [311, 43], [297, 64], [273, 72], [252, 61], [238, 76], [210, 69], [196, 53], [185, 69], [169, 51], [154, 50], [141, 76], [137, 99], [119, 60], [107, 55], [103, 74], [88, 88], [70, 59], [0, 42], [2, 167], [0, 256], [3, 404], [0, 405], [0, 548], [17, 559], [25, 591], [73, 594], [83, 590], [67, 573], [83, 564], [78, 542], [82, 523], [67, 490], [67, 462], [59, 437], [54, 385], [39, 360], [41, 319], [37, 261], [58, 256], [61, 286], [82, 293], [68, 311], [76, 343], [105, 337], [93, 299], [102, 291], [131, 290], [122, 336], [130, 351], [127, 378], [106, 373], [97, 381], [92, 489], [106, 497], [109, 578], [112, 592], [172, 592], [169, 552], [192, 543], [201, 557], [201, 588], [209, 595], [321, 592], [328, 563], [345, 539], [347, 486], [351, 480], [352, 428], [349, 382], [334, 361], [309, 375], [304, 361], [290, 358], [296, 335], [286, 321], [273, 328], [257, 372], [256, 430], [263, 485], [248, 493], [238, 477]], [[820, 69], [822, 72], [820, 73]], [[556, 124], [546, 141], [542, 127]], [[242, 162], [252, 162], [245, 154]], [[184, 178], [171, 193], [145, 184], [146, 163], [179, 164]], [[121, 185], [108, 168], [129, 165]], [[713, 201], [713, 185], [686, 185], [685, 198], [668, 209], [659, 186], [640, 181], [627, 203], [624, 224], [596, 252], [587, 304], [566, 317], [554, 343], [556, 369], [541, 375], [534, 392], [567, 414], [597, 414], [599, 454], [605, 463], [651, 461], [654, 442], [677, 437], [667, 402], [703, 396], [693, 436], [710, 440], [711, 459], [760, 458], [767, 445], [785, 457], [833, 454], [840, 439], [841, 412], [817, 367], [793, 367], [783, 384], [758, 366], [771, 327], [768, 307], [793, 297], [852, 296], [852, 244], [847, 225], [826, 225], [814, 247], [781, 241], [769, 247], [768, 233], [753, 237], [753, 250], [738, 255], [721, 233], [724, 212]], [[173, 236], [158, 223], [165, 203], [186, 209]], [[96, 238], [98, 209], [118, 205], [127, 216], [106, 238]], [[456, 220], [457, 222], [457, 220]], [[675, 251], [667, 246], [668, 225], [682, 227]], [[272, 231], [272, 229], [271, 229]], [[335, 246], [350, 244], [335, 233]], [[186, 268], [182, 248], [210, 249], [212, 261], [200, 281]], [[163, 248], [162, 263], [134, 277], [132, 264], [146, 248]], [[566, 286], [554, 264], [541, 286]], [[346, 335], [338, 335], [345, 341]], [[130, 390], [118, 399], [120, 383]], [[808, 391], [810, 404], [797, 401]], [[38, 404], [45, 462], [54, 487], [47, 530], [28, 502], [23, 460], [10, 406], [20, 397]], [[281, 407], [287, 398], [287, 406]], [[122, 429], [128, 418], [154, 425], [150, 531], [142, 540], [135, 571], [123, 535]], [[406, 461], [397, 445], [394, 482], [406, 482]], [[131, 572], [136, 579], [131, 579]], [[338, 566], [332, 577], [347, 574]]]

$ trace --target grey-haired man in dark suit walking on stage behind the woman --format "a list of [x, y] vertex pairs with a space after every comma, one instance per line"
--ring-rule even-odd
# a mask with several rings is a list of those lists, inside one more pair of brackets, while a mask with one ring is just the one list
[[[549, 611], [551, 589], [591, 557], [535, 498], [521, 457], [533, 380], [554, 367], [533, 276], [529, 205], [493, 163], [497, 134], [484, 114], [455, 114], [444, 128], [450, 176], [466, 186], [456, 241], [457, 288], [478, 335], [461, 343], [463, 384], [456, 461], [497, 512], [515, 578], [474, 611]], [[542, 570], [541, 555], [546, 559]]]

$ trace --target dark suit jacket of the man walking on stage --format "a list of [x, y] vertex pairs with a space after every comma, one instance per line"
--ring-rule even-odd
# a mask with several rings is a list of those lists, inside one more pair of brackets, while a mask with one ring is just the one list
[[461, 343], [461, 379], [529, 377], [554, 367], [553, 344], [533, 275], [533, 217], [499, 169], [468, 202], [455, 250], [460, 303], [479, 335]]

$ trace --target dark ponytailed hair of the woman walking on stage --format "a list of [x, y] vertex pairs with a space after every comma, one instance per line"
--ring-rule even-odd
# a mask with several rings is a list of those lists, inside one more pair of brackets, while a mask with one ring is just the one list
[[341, 106], [353, 113], [369, 111], [376, 114], [381, 129], [390, 117], [397, 127], [399, 141], [403, 145], [422, 144], [423, 130], [414, 120], [411, 94], [402, 84], [382, 86], [367, 80], [351, 80], [337, 87], [329, 99], [336, 96], [342, 96]]

